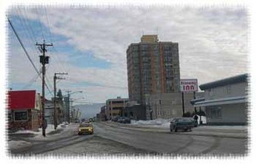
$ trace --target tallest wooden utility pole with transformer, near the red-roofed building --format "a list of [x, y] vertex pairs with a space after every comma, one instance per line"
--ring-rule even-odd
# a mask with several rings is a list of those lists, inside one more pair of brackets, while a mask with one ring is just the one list
[[36, 43], [36, 46], [40, 46], [40, 52], [43, 53], [43, 55], [40, 55], [40, 63], [42, 63], [42, 97], [43, 97], [43, 103], [42, 103], [42, 119], [43, 119], [43, 127], [42, 127], [42, 133], [43, 136], [45, 136], [45, 128], [46, 128], [46, 122], [45, 122], [45, 64], [49, 63], [49, 56], [45, 56], [45, 52], [47, 52], [46, 47], [53, 46], [52, 44], [46, 44], [45, 40], [43, 40], [43, 44]]

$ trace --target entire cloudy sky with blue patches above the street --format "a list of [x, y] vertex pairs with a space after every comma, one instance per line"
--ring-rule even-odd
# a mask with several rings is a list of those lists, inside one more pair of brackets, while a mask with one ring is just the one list
[[[81, 90], [72, 97], [88, 102], [128, 97], [126, 50], [142, 34], [178, 42], [181, 78], [198, 78], [199, 85], [248, 72], [248, 16], [242, 6], [15, 6], [8, 16], [38, 70], [35, 42], [53, 43], [46, 53], [50, 89], [54, 72], [67, 72], [57, 88], [63, 94]], [[9, 87], [41, 93], [41, 80], [9, 25], [8, 35]]]

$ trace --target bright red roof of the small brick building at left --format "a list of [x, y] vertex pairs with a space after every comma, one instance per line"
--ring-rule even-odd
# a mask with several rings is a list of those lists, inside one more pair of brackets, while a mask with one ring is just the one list
[[26, 110], [35, 108], [36, 91], [8, 91], [8, 109], [9, 110]]

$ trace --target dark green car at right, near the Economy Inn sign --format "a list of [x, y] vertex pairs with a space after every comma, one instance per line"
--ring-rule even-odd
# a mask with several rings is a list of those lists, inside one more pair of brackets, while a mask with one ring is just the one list
[[177, 132], [179, 129], [192, 131], [194, 123], [190, 118], [173, 118], [170, 121], [170, 131]]

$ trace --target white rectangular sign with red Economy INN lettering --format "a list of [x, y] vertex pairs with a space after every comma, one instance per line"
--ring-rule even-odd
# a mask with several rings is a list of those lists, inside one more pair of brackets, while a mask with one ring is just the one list
[[197, 79], [180, 79], [180, 91], [182, 92], [198, 91]]

